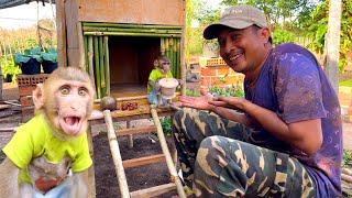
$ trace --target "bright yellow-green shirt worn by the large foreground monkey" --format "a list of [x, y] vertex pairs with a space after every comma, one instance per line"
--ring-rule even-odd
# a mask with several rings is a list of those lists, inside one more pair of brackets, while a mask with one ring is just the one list
[[88, 169], [92, 164], [87, 134], [81, 133], [67, 141], [58, 140], [51, 132], [43, 113], [21, 125], [4, 146], [3, 152], [21, 169], [20, 183], [31, 183], [26, 167], [32, 158], [43, 155], [53, 164], [58, 164], [68, 156], [72, 160], [70, 168], [74, 173]]

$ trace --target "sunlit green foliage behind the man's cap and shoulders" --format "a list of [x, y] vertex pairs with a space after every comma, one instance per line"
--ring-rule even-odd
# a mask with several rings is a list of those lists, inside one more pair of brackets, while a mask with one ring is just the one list
[[[199, 38], [202, 30], [218, 21], [220, 10], [239, 3], [253, 4], [264, 10], [273, 31], [274, 44], [295, 42], [307, 46], [316, 54], [322, 54], [328, 30], [329, 0], [222, 0], [220, 8], [209, 8], [205, 0], [187, 1], [187, 44], [188, 57], [199, 55], [206, 43]], [[199, 28], [191, 28], [197, 20]], [[191, 32], [191, 33], [190, 33]], [[343, 72], [348, 54], [352, 52], [352, 1], [342, 0], [341, 46], [339, 69]]]

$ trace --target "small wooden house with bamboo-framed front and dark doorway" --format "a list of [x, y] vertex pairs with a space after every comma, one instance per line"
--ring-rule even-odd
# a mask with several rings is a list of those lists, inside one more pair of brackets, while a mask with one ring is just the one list
[[97, 98], [146, 95], [154, 59], [184, 79], [185, 0], [56, 1], [59, 66], [79, 66]]

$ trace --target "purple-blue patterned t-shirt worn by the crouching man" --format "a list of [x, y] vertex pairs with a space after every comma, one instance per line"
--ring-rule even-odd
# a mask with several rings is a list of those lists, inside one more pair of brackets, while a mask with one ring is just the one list
[[[288, 153], [301, 162], [316, 183], [318, 197], [341, 195], [342, 127], [340, 105], [315, 56], [295, 44], [271, 51], [254, 86], [244, 79], [245, 98], [270, 109], [286, 123], [321, 119], [323, 142], [312, 156], [261, 129], [260, 146]], [[309, 129], [307, 129], [309, 133]]]

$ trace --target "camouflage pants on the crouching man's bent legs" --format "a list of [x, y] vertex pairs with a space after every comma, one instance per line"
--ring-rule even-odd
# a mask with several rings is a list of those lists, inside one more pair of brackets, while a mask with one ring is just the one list
[[173, 122], [183, 176], [197, 197], [315, 197], [304, 165], [254, 145], [255, 130], [188, 108]]

